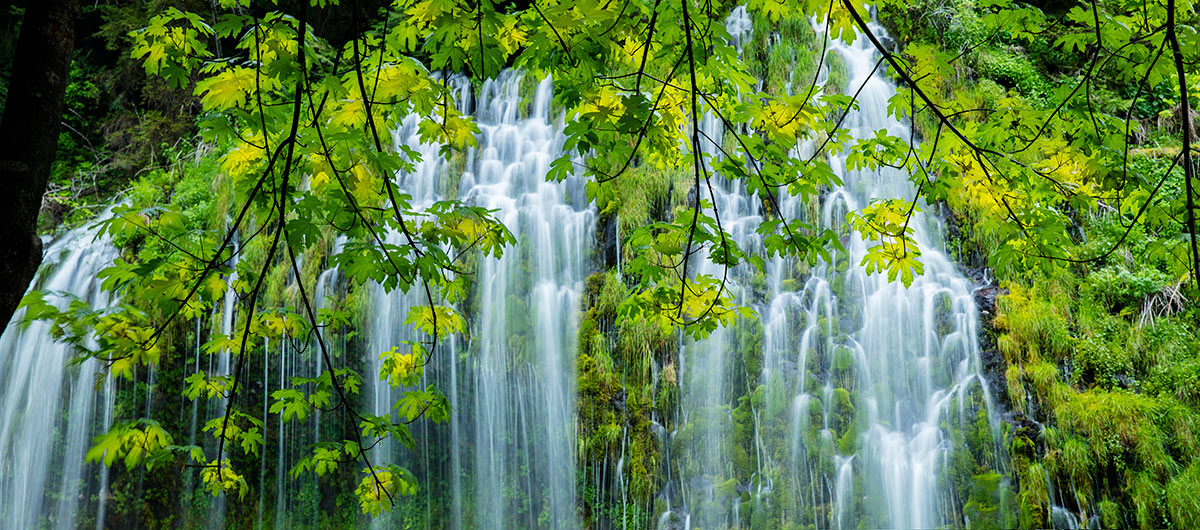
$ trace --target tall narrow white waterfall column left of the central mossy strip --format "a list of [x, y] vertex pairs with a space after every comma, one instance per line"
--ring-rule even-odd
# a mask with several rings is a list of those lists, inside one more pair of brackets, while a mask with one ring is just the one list
[[[577, 526], [575, 319], [594, 213], [581, 182], [544, 177], [563, 143], [560, 125], [550, 118], [551, 80], [527, 84], [535, 94], [522, 94], [522, 85], [520, 73], [506, 72], [479, 89], [479, 147], [466, 153], [464, 169], [448, 165], [437, 146], [420, 144], [415, 120], [397, 133], [397, 141], [424, 156], [398, 177], [414, 204], [456, 193], [493, 210], [517, 239], [502, 259], [478, 264], [475, 296], [464, 312], [469, 342], [440, 347], [426, 373], [450, 400], [449, 424], [421, 427], [419, 454], [396, 456], [419, 460], [409, 468], [431, 490], [426, 520], [450, 528]], [[460, 107], [470, 110], [470, 92], [458, 94]], [[378, 293], [367, 355], [415, 338], [401, 323], [410, 307], [425, 303], [419, 291]], [[386, 414], [392, 402], [394, 391], [377, 384], [373, 412]]]

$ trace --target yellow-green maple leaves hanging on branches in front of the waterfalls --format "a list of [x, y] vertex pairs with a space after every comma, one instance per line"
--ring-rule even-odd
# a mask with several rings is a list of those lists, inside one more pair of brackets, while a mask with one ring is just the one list
[[[841, 118], [856, 106], [857, 86], [836, 90], [818, 83], [818, 76], [791, 94], [760, 84], [724, 24], [734, 7], [728, 2], [397, 0], [366, 12], [356, 2], [329, 0], [222, 0], [215, 19], [166, 10], [132, 34], [131, 53], [148, 74], [200, 98], [202, 134], [224, 149], [220, 165], [234, 189], [235, 215], [205, 225], [176, 205], [118, 206], [104, 230], [140, 241], [142, 252], [107, 269], [104, 288], [138, 302], [59, 311], [34, 295], [28, 315], [53, 319], [58, 333], [88, 347], [88, 356], [122, 377], [131, 377], [134, 366], [157, 363], [164, 332], [208, 314], [229, 289], [250, 318], [232, 336], [204, 347], [232, 354], [230, 374], [196, 374], [185, 390], [190, 399], [228, 403], [203, 428], [217, 440], [216, 453], [181, 446], [151, 421], [134, 421], [101, 436], [88, 458], [106, 465], [120, 458], [128, 466], [186, 460], [204, 469], [214, 494], [245, 493], [246, 481], [227, 453], [257, 454], [263, 445], [262, 421], [233, 399], [242, 391], [246, 360], [264, 354], [264, 337], [305, 337], [332, 367], [326, 336], [349, 319], [344, 309], [318, 311], [304, 281], [295, 303], [269, 307], [265, 282], [280, 266], [305, 278], [298, 254], [336, 234], [346, 243], [328, 264], [349, 282], [418, 289], [425, 296], [406, 321], [425, 339], [382, 353], [384, 369], [373, 374], [408, 390], [395, 414], [373, 416], [353, 405], [364, 375], [330, 368], [276, 391], [270, 411], [287, 421], [343, 409], [358, 424], [353, 439], [314, 445], [293, 472], [322, 475], [359, 463], [355, 493], [365, 513], [378, 514], [396, 495], [412, 494], [415, 477], [372, 463], [371, 448], [385, 438], [412, 445], [412, 422], [444, 421], [450, 414], [438, 389], [419, 387], [420, 374], [439, 341], [467, 331], [455, 303], [469, 290], [468, 260], [499, 257], [514, 237], [485, 209], [458, 200], [414, 204], [391, 176], [412, 170], [421, 155], [392, 145], [389, 132], [415, 115], [421, 139], [440, 145], [440, 156], [474, 146], [479, 127], [456, 108], [455, 83], [479, 84], [508, 67], [554, 79], [566, 141], [546, 179], [582, 176], [588, 198], [604, 207], [619, 200], [631, 168], [690, 176], [688, 207], [626, 235], [632, 257], [626, 275], [634, 284], [617, 311], [653, 317], [696, 339], [749, 312], [737, 307], [724, 277], [696, 273], [692, 255], [725, 267], [763, 269], [764, 259], [728, 236], [712, 207], [712, 182], [737, 181], [775, 212], [756, 228], [768, 255], [816, 263], [840, 248], [839, 227], [781, 217], [778, 203], [785, 194], [815, 200], [840, 185], [826, 156], [830, 152], [847, 153], [852, 169], [892, 167], [912, 175], [916, 197], [878, 200], [851, 216], [853, 228], [876, 242], [863, 265], [889, 279], [908, 284], [922, 273], [908, 227], [920, 204], [954, 205], [964, 198], [967, 204], [955, 206], [997, 242], [990, 258], [1000, 275], [1100, 260], [1135, 228], [1169, 227], [1175, 227], [1171, 236], [1148, 245], [1146, 253], [1174, 279], [1194, 275], [1194, 138], [1187, 120], [1200, 89], [1200, 35], [1186, 24], [1195, 20], [1190, 1], [1093, 1], [1051, 17], [1027, 4], [984, 0], [978, 8], [988, 34], [962, 42], [959, 55], [920, 44], [887, 46], [872, 34], [868, 13], [904, 2], [878, 4], [751, 0], [746, 8], [775, 24], [815, 20], [827, 30], [826, 43], [870, 38], [881, 66], [901, 86], [889, 112], [923, 125], [924, 143], [886, 131], [851, 139]], [[348, 42], [330, 42], [307, 23], [310, 14], [330, 10], [352, 13]], [[1028, 82], [1027, 89], [1042, 90], [1040, 101], [1000, 94], [980, 102], [950, 94], [944, 79], [955, 74], [959, 59], [996, 35], [1028, 46], [1055, 35], [1052, 48], [1069, 59], [1075, 82], [1055, 88]], [[822, 53], [818, 61], [824, 60]], [[1027, 77], [1003, 70], [1003, 61], [989, 65], [1014, 84]], [[1127, 112], [1098, 104], [1102, 72], [1116, 72], [1135, 88]], [[1164, 84], [1178, 90], [1154, 91]], [[1129, 163], [1132, 113], [1152, 97], [1174, 97], [1171, 106], [1183, 116], [1182, 147], [1157, 173]], [[701, 127], [706, 115], [721, 121], [732, 138], [708, 138]], [[799, 156], [802, 145], [817, 147]], [[1182, 186], [1176, 167], [1183, 168]], [[1176, 193], [1164, 194], [1170, 186]], [[1117, 212], [1126, 233], [1103, 248], [1075, 245], [1073, 216], [1098, 207]], [[94, 331], [97, 341], [90, 343]]]

